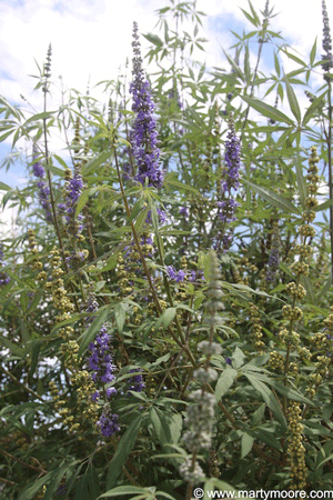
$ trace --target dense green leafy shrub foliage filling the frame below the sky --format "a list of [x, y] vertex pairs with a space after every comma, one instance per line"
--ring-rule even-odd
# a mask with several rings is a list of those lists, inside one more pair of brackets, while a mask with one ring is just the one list
[[[331, 77], [311, 87], [322, 73], [316, 42], [300, 59], [273, 31], [269, 2], [263, 12], [249, 2], [244, 14], [253, 31], [234, 33], [224, 69], [192, 59], [205, 42], [195, 2], [171, 0], [158, 34], [145, 36], [160, 189], [134, 179], [124, 79], [102, 82], [104, 102], [71, 90], [49, 110], [49, 50], [37, 84], [44, 109], [1, 98], [0, 139], [26, 141], [31, 173], [20, 190], [0, 186], [2, 203], [22, 211], [0, 270], [1, 498], [333, 488]], [[281, 56], [295, 64], [290, 73]], [[52, 151], [59, 134], [63, 154]], [[235, 179], [228, 144], [238, 152], [238, 140]], [[236, 210], [223, 218], [231, 196]], [[104, 381], [89, 364], [103, 328], [115, 376]], [[189, 451], [196, 390], [214, 402], [212, 436], [204, 447], [198, 431]], [[100, 419], [111, 413], [119, 429], [105, 436]]]

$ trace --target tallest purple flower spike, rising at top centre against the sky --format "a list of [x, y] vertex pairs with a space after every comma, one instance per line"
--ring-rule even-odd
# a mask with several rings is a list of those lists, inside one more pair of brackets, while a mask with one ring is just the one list
[[135, 179], [142, 184], [148, 179], [149, 186], [161, 188], [164, 174], [159, 166], [160, 150], [157, 146], [158, 131], [153, 116], [155, 106], [152, 100], [150, 83], [143, 76], [137, 22], [133, 24], [133, 81], [130, 86], [130, 92], [133, 94], [132, 110], [137, 113], [131, 132], [133, 156], [138, 164]]

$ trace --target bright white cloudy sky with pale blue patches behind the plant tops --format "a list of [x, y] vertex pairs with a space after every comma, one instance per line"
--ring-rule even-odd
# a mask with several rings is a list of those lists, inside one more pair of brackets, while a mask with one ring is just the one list
[[[252, 3], [256, 10], [263, 10], [265, 0], [252, 0]], [[93, 86], [100, 80], [117, 78], [125, 58], [131, 59], [133, 20], [138, 21], [142, 33], [152, 32], [155, 9], [168, 4], [168, 0], [1, 0], [0, 94], [27, 108], [22, 94], [38, 112], [42, 111], [41, 92], [33, 90], [36, 80], [29, 74], [37, 74], [34, 60], [43, 63], [50, 42], [53, 79], [61, 74], [69, 88], [83, 92], [89, 79]], [[196, 6], [208, 14], [204, 20], [204, 34], [209, 39], [205, 61], [211, 67], [224, 66], [221, 47], [228, 50], [234, 42], [229, 30], [251, 29], [241, 11], [241, 8], [249, 10], [248, 0], [198, 0]], [[275, 6], [279, 12], [273, 30], [281, 30], [287, 42], [303, 54], [309, 53], [317, 36], [320, 54], [321, 0], [271, 0], [270, 6]], [[330, 0], [327, 10], [333, 23]], [[144, 49], [144, 40], [142, 46]], [[271, 62], [265, 58], [264, 68], [269, 69]], [[291, 63], [285, 63], [290, 70]], [[56, 141], [54, 148], [61, 149], [61, 144]], [[0, 162], [9, 150], [9, 141], [0, 144]], [[24, 168], [20, 164], [12, 166], [9, 172], [0, 171], [0, 181], [12, 187], [22, 186], [24, 178]]]

